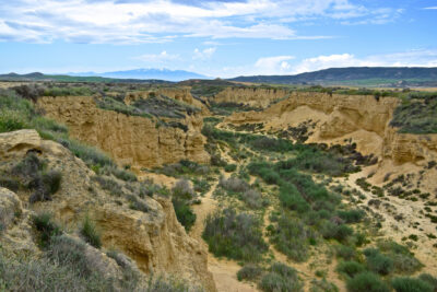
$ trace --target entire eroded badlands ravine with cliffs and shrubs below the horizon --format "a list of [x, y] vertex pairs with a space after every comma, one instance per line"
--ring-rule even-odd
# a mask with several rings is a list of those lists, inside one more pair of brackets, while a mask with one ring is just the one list
[[437, 291], [437, 93], [0, 84], [0, 290]]

